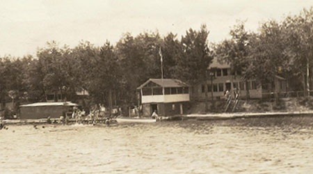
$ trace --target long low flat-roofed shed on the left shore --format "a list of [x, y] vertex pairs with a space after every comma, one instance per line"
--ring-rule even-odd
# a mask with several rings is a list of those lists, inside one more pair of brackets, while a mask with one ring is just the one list
[[39, 102], [19, 106], [20, 119], [60, 118], [70, 115], [73, 107], [78, 106], [72, 102]]

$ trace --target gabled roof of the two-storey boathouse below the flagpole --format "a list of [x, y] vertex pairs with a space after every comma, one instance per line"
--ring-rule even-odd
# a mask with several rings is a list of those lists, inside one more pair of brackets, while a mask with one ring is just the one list
[[141, 89], [147, 84], [152, 81], [154, 84], [157, 84], [159, 86], [168, 88], [168, 87], [188, 87], [188, 85], [178, 79], [148, 79], [143, 83], [141, 86], [139, 86], [137, 89]]

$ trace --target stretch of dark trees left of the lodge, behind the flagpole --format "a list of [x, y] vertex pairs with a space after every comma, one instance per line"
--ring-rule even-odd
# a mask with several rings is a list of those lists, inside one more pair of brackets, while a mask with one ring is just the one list
[[164, 78], [202, 79], [211, 61], [208, 34], [202, 25], [199, 31], [186, 31], [181, 40], [173, 33], [163, 38], [159, 33], [126, 33], [116, 45], [106, 41], [101, 47], [83, 41], [74, 48], [47, 42], [35, 57], [1, 58], [1, 104], [13, 100], [17, 109], [22, 102], [45, 102], [54, 93], [75, 101], [81, 88], [90, 94], [89, 104], [107, 106], [109, 95], [116, 99], [113, 104], [136, 104], [136, 88], [149, 78], [161, 78], [160, 56]]

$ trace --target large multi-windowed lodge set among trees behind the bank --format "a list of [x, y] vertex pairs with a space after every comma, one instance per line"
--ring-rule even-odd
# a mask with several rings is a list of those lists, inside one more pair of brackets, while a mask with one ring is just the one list
[[[261, 84], [257, 79], [248, 80], [248, 83], [246, 83], [241, 77], [241, 72], [232, 72], [230, 65], [227, 63], [220, 63], [216, 58], [214, 58], [209, 66], [209, 70], [211, 70], [211, 74], [207, 79], [209, 98], [211, 98], [211, 90], [213, 90], [213, 96], [217, 100], [224, 97], [225, 90], [232, 92], [235, 88], [239, 89], [241, 98], [246, 97], [248, 89], [249, 98], [252, 99], [265, 98], [273, 93], [284, 93], [287, 91], [286, 80], [282, 77], [275, 77], [275, 85]], [[213, 89], [211, 83], [213, 84]], [[205, 81], [203, 81], [193, 86], [193, 100], [204, 100], [205, 84]]]

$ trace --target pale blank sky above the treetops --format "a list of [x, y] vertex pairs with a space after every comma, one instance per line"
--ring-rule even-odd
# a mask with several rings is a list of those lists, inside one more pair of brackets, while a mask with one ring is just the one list
[[123, 33], [159, 31], [161, 36], [206, 24], [209, 42], [229, 38], [236, 20], [257, 31], [261, 22], [282, 20], [313, 6], [313, 0], [0, 0], [0, 56], [35, 55], [55, 40], [75, 47], [81, 40], [115, 44]]

